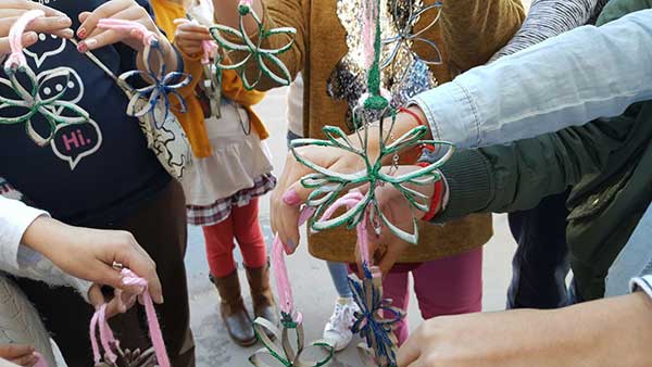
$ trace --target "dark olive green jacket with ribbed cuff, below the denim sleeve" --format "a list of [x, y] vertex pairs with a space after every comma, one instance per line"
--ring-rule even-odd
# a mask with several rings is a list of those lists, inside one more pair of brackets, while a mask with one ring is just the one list
[[[652, 0], [612, 1], [599, 24], [647, 8]], [[652, 101], [581, 127], [459, 152], [442, 172], [450, 200], [436, 222], [528, 210], [572, 187], [566, 235], [578, 301], [602, 298], [610, 266], [652, 201]]]

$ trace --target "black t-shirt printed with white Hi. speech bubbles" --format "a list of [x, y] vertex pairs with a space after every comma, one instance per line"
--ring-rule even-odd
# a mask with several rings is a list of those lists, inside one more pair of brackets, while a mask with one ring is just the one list
[[[66, 13], [76, 30], [78, 14], [104, 2], [50, 0], [48, 5]], [[147, 1], [139, 3], [150, 10]], [[147, 148], [138, 121], [126, 115], [127, 98], [101, 68], [77, 52], [71, 41], [50, 35], [39, 35], [39, 41], [26, 51], [36, 75], [35, 80], [20, 75], [26, 90], [37, 92], [41, 100], [65, 90], [61, 100], [74, 105], [50, 103], [26, 121], [8, 122], [8, 117], [27, 116], [28, 110], [0, 101], [0, 176], [30, 204], [71, 224], [101, 225], [124, 216], [170, 182]], [[93, 54], [115, 75], [136, 68], [136, 52], [125, 45], [105, 47]], [[63, 75], [57, 76], [62, 68]], [[3, 71], [0, 78], [0, 96], [20, 100]], [[78, 107], [90, 115], [88, 123], [55, 122], [59, 115], [78, 116]], [[29, 126], [39, 136], [53, 138], [39, 147], [28, 137]]]

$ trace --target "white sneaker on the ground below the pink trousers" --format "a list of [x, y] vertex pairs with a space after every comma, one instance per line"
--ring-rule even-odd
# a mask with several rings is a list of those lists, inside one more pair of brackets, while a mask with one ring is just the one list
[[336, 352], [346, 349], [351, 343], [351, 339], [353, 339], [351, 327], [355, 320], [354, 314], [358, 311], [358, 305], [351, 298], [340, 298], [335, 303], [333, 316], [330, 316], [324, 328], [324, 340], [333, 345]]

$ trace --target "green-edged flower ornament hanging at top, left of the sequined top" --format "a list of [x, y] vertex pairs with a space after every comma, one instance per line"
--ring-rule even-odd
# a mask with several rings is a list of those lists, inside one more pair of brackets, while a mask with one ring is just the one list
[[[292, 81], [290, 71], [280, 61], [278, 55], [292, 47], [297, 29], [281, 27], [265, 30], [260, 16], [251, 8], [251, 0], [240, 1], [239, 16], [240, 21], [238, 29], [220, 24], [211, 27], [211, 35], [224, 52], [224, 55], [216, 61], [218, 72], [223, 69], [236, 71], [242, 79], [244, 88], [248, 90], [254, 89], [263, 76], [271, 78], [281, 86], [289, 86]], [[253, 18], [258, 26], [258, 31], [254, 37], [250, 37], [244, 27], [244, 20], [248, 16]], [[290, 38], [286, 45], [276, 49], [267, 49], [262, 46], [271, 37], [284, 35], [287, 35]], [[235, 41], [231, 41], [230, 39], [234, 39]], [[230, 63], [230, 53], [237, 53], [239, 61]], [[255, 63], [258, 67], [254, 75], [249, 76], [247, 74], [247, 66], [252, 62]]]

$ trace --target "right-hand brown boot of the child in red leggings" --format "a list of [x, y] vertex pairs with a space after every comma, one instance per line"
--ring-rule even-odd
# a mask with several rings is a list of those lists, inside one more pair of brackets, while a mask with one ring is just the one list
[[267, 319], [278, 325], [278, 308], [269, 288], [269, 266], [265, 265], [258, 269], [246, 267], [247, 280], [251, 290], [251, 302], [255, 317]]

